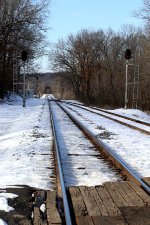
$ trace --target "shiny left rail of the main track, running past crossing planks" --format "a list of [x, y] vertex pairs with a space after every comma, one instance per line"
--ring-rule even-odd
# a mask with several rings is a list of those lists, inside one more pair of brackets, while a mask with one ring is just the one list
[[[53, 100], [53, 101], [55, 101], [55, 100]], [[50, 119], [51, 119], [51, 123], [52, 123], [52, 130], [53, 130], [53, 136], [54, 136], [54, 144], [55, 144], [57, 161], [58, 161], [60, 183], [61, 183], [61, 188], [62, 188], [65, 219], [66, 219], [67, 225], [72, 225], [71, 215], [70, 215], [70, 210], [69, 210], [69, 204], [68, 204], [68, 200], [67, 200], [67, 193], [66, 193], [65, 183], [64, 183], [64, 179], [63, 179], [63, 172], [62, 172], [62, 168], [61, 168], [61, 161], [60, 161], [60, 156], [59, 156], [59, 147], [58, 147], [58, 144], [57, 144], [58, 141], [57, 141], [57, 133], [56, 133], [56, 129], [55, 129], [55, 122], [54, 122], [53, 112], [52, 112], [52, 109], [51, 109], [51, 106], [50, 106], [50, 101], [48, 101], [48, 103], [49, 103]]]

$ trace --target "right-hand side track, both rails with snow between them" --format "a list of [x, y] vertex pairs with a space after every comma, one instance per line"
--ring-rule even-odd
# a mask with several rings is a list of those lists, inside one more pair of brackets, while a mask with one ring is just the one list
[[86, 106], [83, 106], [82, 104], [79, 104], [79, 103], [72, 103], [72, 102], [66, 102], [66, 101], [61, 101], [61, 102], [66, 105], [72, 105], [74, 107], [92, 112], [93, 114], [100, 115], [102, 117], [113, 120], [122, 125], [130, 127], [134, 130], [138, 130], [144, 134], [150, 135], [150, 123], [148, 123], [148, 122], [130, 118], [127, 116], [123, 116], [123, 115], [120, 115], [117, 113], [109, 112], [109, 111], [106, 111], [103, 109], [98, 109], [96, 107], [88, 107], [87, 108]]

